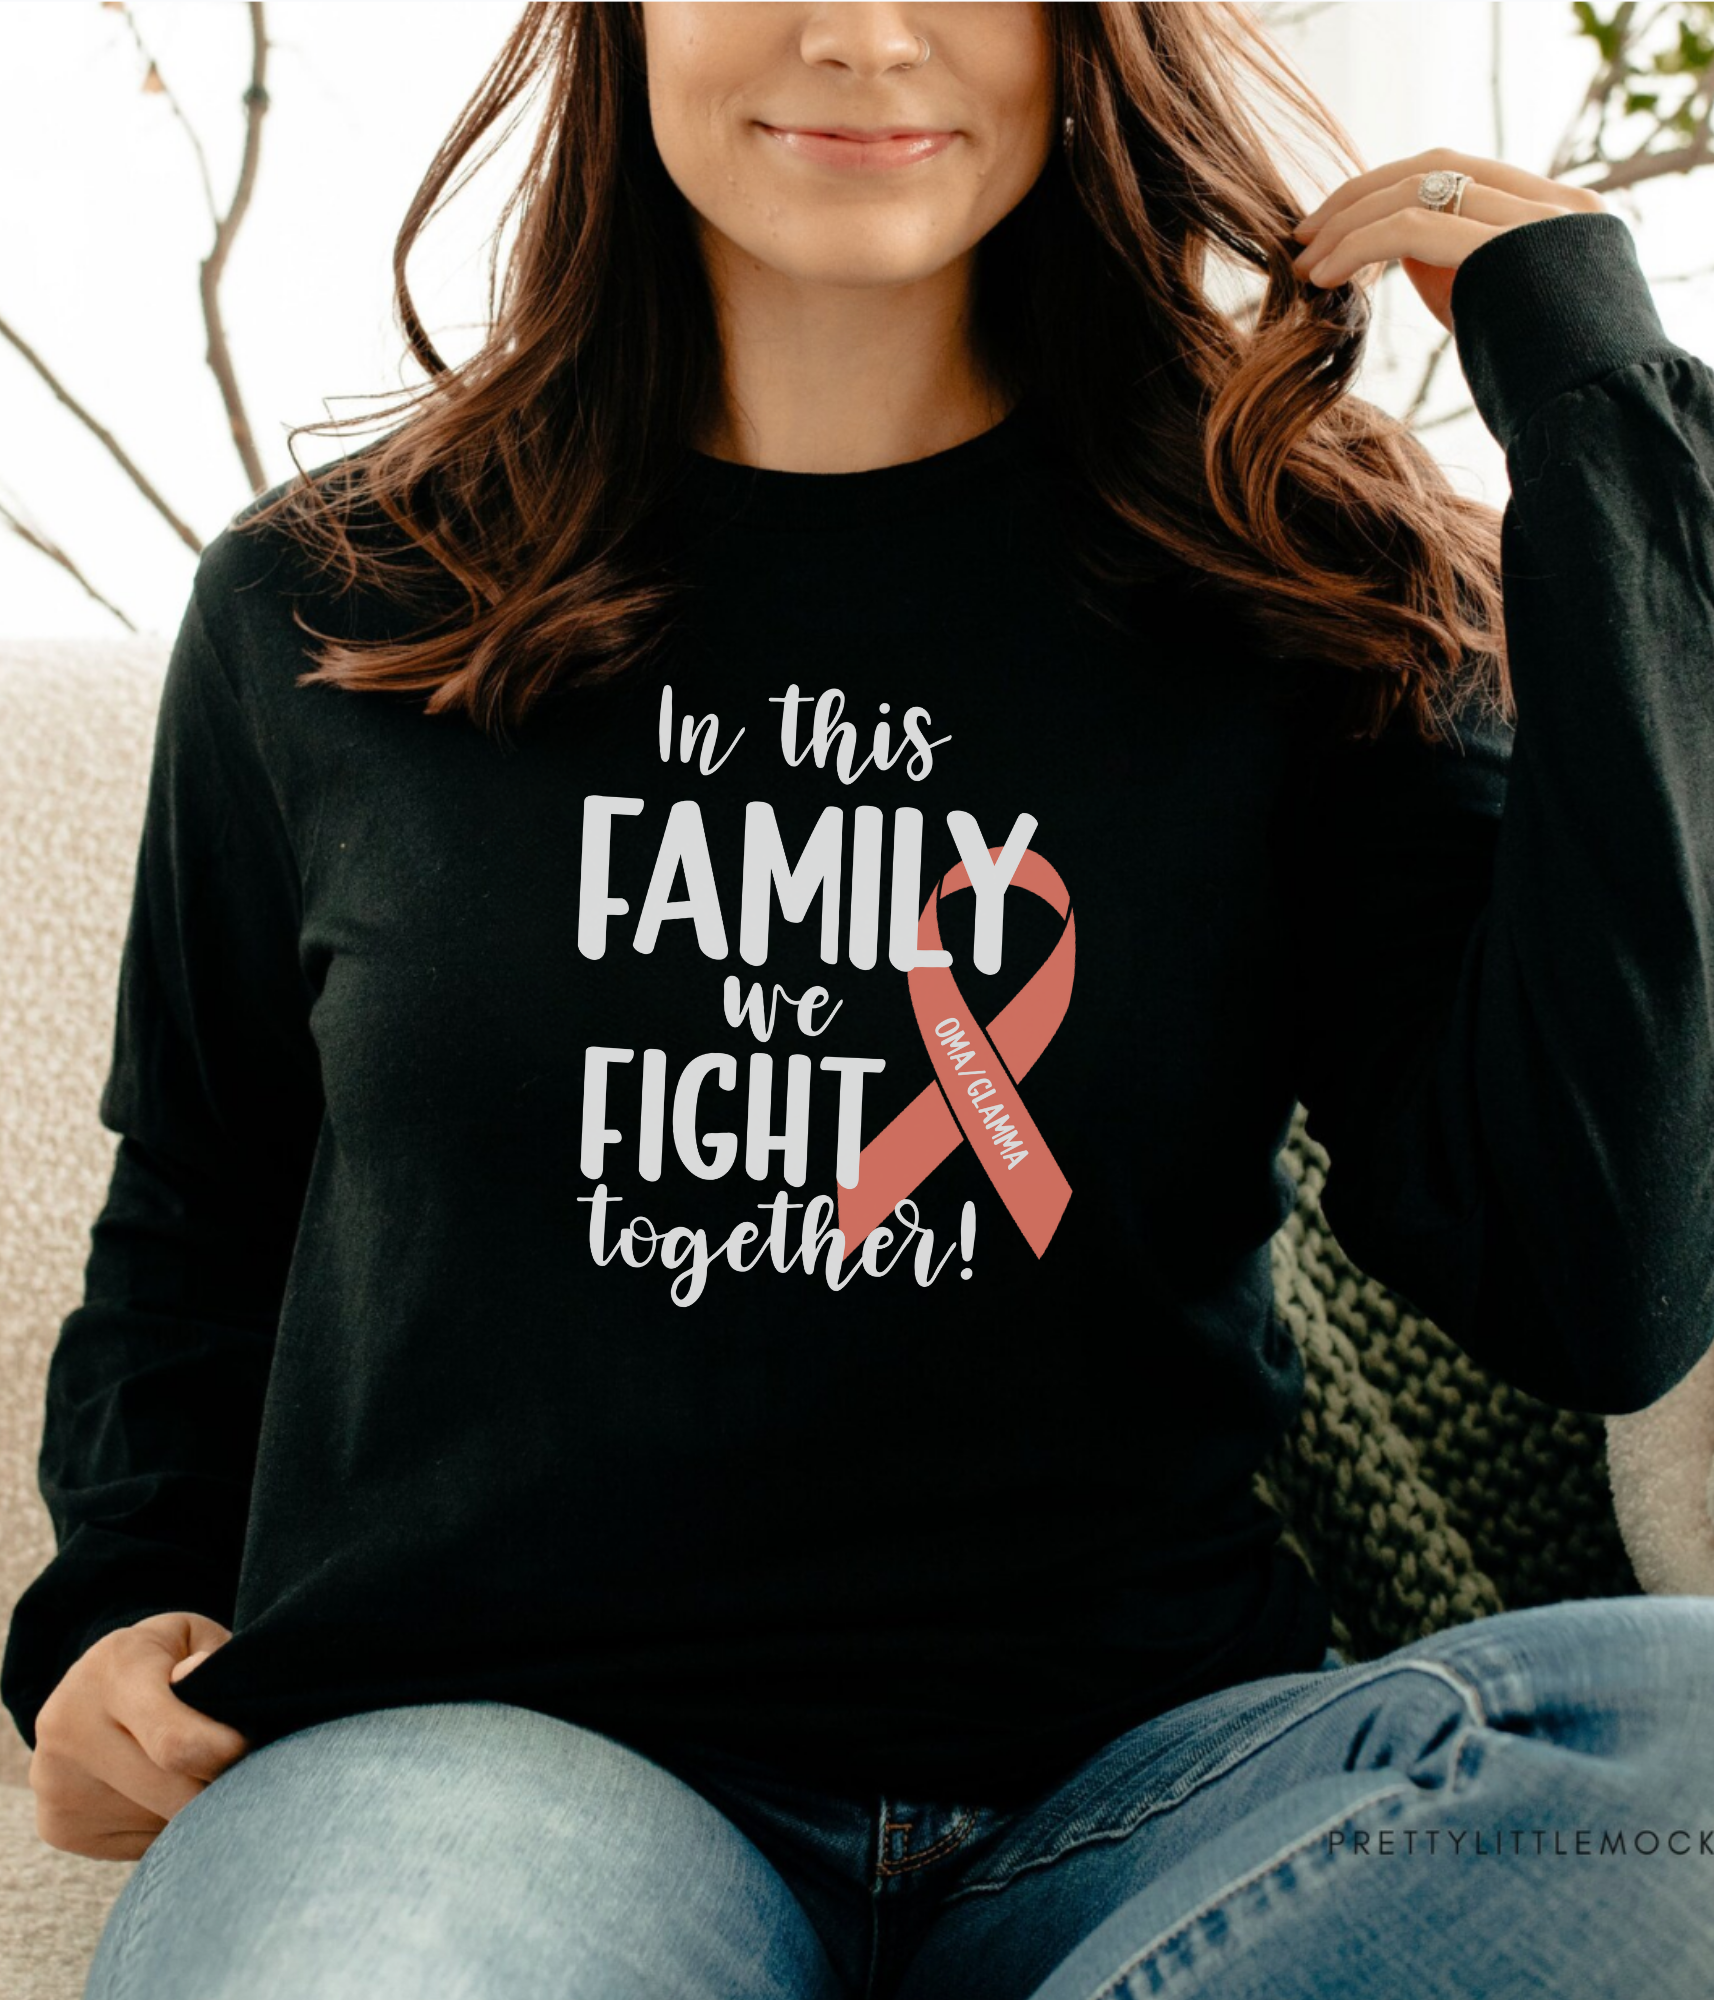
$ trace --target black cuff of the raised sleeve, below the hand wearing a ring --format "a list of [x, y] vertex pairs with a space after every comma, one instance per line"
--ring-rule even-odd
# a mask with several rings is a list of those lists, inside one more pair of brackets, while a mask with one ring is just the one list
[[1452, 276], [1452, 336], [1482, 422], [1508, 452], [1550, 398], [1684, 352], [1660, 324], [1630, 226], [1584, 208], [1478, 244]]

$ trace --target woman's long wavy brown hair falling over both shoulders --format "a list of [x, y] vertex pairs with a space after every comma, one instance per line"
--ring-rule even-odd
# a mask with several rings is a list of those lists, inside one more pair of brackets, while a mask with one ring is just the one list
[[[1510, 718], [1500, 516], [1348, 392], [1364, 290], [1290, 270], [1300, 210], [1270, 126], [1296, 116], [1360, 172], [1344, 128], [1244, 6], [1044, 12], [1074, 142], [978, 244], [974, 338], [1056, 440], [1094, 600], [1188, 570], [1266, 658], [1338, 670], [1352, 736], [1408, 704], [1408, 726], [1440, 740], [1454, 686]], [[450, 366], [406, 262], [538, 90], [490, 246], [486, 338]], [[1222, 258], [1262, 280], [1248, 310], [1214, 298]], [[428, 712], [504, 736], [544, 694], [612, 678], [660, 642], [674, 578], [652, 524], [720, 392], [688, 206], [652, 138], [638, 8], [522, 10], [410, 204], [394, 304], [428, 378], [398, 392], [404, 422], [308, 472], [298, 436], [374, 418], [294, 426], [296, 476], [234, 526], [278, 520], [340, 588], [438, 602], [378, 642], [314, 634], [300, 680], [428, 690]]]

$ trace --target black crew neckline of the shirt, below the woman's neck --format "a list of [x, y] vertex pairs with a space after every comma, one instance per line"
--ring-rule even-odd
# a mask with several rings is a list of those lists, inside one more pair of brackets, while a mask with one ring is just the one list
[[862, 472], [784, 472], [684, 448], [680, 494], [726, 518], [768, 528], [844, 528], [948, 506], [1026, 452], [1034, 404], [1024, 394], [986, 430], [922, 458]]

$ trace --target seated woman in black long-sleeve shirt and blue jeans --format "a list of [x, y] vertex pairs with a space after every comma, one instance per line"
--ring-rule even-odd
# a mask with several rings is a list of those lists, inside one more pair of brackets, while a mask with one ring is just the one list
[[544, 84], [486, 342], [400, 282], [164, 690], [6, 1690], [92, 1996], [1700, 1992], [1714, 1606], [1346, 1664], [1252, 1472], [1296, 1098], [1520, 1386], [1708, 1344], [1714, 374], [1504, 162], [1298, 222], [1270, 80], [526, 10], [400, 242]]

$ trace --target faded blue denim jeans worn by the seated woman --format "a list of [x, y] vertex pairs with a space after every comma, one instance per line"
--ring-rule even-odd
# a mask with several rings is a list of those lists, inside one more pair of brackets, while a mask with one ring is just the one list
[[504, 1702], [196, 1794], [86, 2000], [1706, 2000], [1714, 1598], [1504, 1612], [1168, 1710], [1040, 1798], [676, 1772]]

